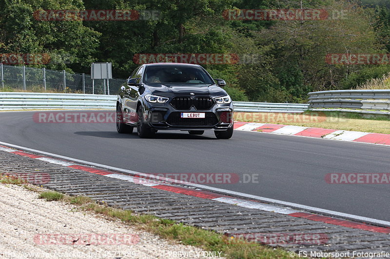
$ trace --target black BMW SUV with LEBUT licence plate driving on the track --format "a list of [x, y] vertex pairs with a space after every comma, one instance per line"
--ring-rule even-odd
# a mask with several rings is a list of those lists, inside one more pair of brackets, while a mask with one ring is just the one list
[[[215, 83], [216, 81], [216, 83]], [[147, 138], [158, 130], [201, 135], [214, 130], [216, 138], [233, 135], [233, 104], [221, 87], [199, 65], [144, 64], [133, 71], [117, 98], [117, 131]]]

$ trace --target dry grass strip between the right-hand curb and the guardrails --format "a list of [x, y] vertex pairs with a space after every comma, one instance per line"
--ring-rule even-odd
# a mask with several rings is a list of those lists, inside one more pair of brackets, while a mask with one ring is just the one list
[[355, 113], [311, 111], [304, 113], [235, 112], [234, 121], [390, 134], [389, 118], [365, 118]]

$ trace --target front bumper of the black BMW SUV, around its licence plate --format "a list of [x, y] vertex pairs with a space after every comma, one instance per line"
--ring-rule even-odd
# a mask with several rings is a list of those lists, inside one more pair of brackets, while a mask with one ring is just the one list
[[[146, 103], [146, 102], [145, 102]], [[209, 110], [177, 110], [171, 104], [144, 106], [145, 121], [156, 130], [227, 130], [233, 127], [233, 104], [214, 104]], [[180, 118], [181, 112], [205, 113], [204, 119]]]

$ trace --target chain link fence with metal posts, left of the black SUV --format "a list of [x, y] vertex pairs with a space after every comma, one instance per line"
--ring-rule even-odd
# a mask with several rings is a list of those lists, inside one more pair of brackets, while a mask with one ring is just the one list
[[65, 70], [38, 69], [0, 64], [0, 91], [42, 93], [117, 94], [126, 79], [91, 79], [91, 75]]

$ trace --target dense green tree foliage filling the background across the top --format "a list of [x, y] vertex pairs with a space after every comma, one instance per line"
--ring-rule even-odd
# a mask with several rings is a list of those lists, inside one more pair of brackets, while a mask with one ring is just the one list
[[[226, 9], [325, 9], [326, 20], [227, 20]], [[351, 0], [3, 0], [0, 53], [66, 56], [50, 69], [89, 72], [112, 62], [128, 77], [137, 53], [235, 53], [237, 64], [206, 64], [237, 101], [306, 102], [314, 90], [346, 89], [389, 65], [331, 65], [329, 53], [390, 52], [387, 1]], [[157, 10], [156, 19], [41, 21], [36, 10]], [[342, 14], [342, 15], [341, 15]], [[35, 65], [42, 66], [42, 65]]]

